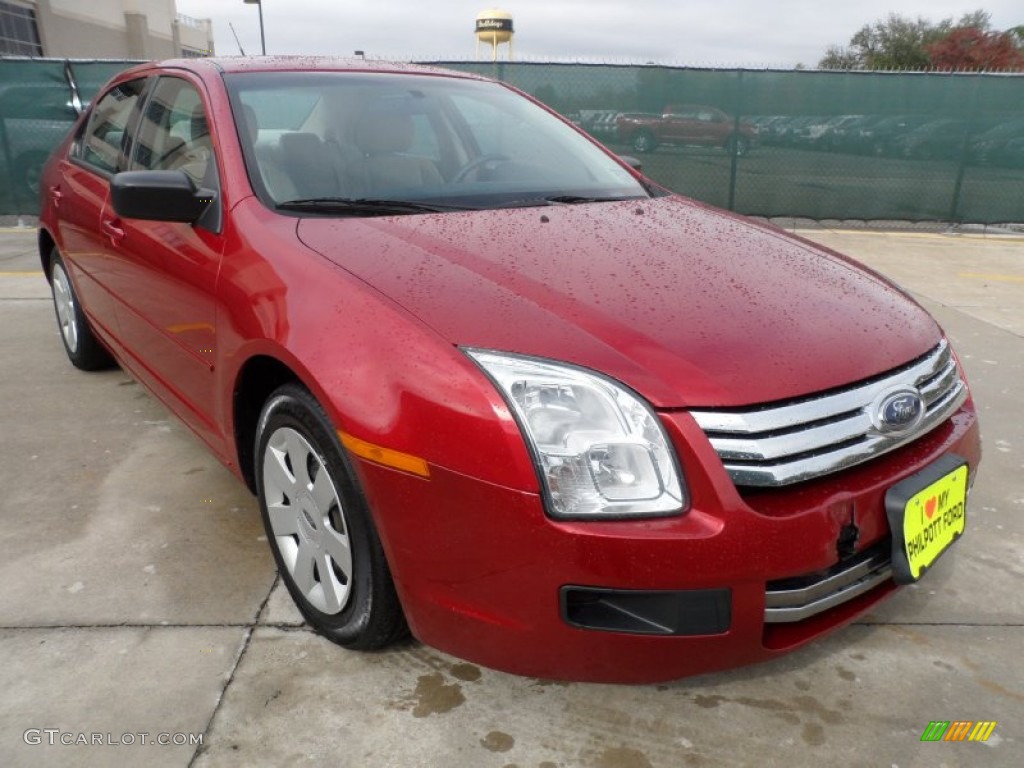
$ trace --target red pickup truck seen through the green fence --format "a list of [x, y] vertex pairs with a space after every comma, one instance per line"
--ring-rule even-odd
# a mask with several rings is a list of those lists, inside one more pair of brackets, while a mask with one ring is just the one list
[[754, 128], [714, 106], [670, 104], [662, 115], [625, 113], [616, 121], [618, 140], [635, 152], [654, 152], [658, 144], [721, 146], [745, 155]]

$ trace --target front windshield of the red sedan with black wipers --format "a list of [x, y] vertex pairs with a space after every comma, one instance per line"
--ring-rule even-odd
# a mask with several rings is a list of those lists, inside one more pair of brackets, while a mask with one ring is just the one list
[[498, 83], [351, 72], [226, 81], [250, 179], [279, 210], [381, 215], [649, 197], [589, 139]]

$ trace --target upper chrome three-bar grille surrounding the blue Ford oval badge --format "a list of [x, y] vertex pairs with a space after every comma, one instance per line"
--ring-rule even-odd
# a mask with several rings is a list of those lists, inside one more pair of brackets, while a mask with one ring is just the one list
[[[873, 411], [896, 389], [915, 389], [924, 415], [906, 431], [884, 431]], [[915, 440], [967, 399], [949, 344], [863, 384], [800, 400], [691, 411], [739, 486], [774, 487], [852, 467]]]

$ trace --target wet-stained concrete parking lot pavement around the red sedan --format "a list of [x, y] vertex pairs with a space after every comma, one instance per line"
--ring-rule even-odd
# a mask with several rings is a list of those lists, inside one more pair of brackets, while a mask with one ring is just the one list
[[[0, 765], [1021, 765], [1024, 238], [802, 233], [904, 285], [951, 338], [985, 447], [968, 532], [780, 660], [611, 686], [308, 631], [255, 499], [127, 375], [71, 367], [34, 230], [0, 230]], [[922, 742], [936, 720], [996, 726]]]

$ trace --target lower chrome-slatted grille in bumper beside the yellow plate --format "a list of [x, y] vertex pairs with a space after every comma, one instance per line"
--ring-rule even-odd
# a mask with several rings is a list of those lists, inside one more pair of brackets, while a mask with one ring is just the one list
[[892, 577], [890, 543], [813, 575], [769, 582], [765, 623], [801, 622], [852, 600]]

